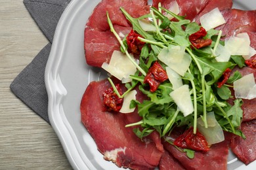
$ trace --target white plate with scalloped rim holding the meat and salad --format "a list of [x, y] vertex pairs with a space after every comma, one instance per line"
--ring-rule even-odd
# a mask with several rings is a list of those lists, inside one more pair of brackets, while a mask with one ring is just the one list
[[[85, 62], [83, 33], [91, 12], [100, 0], [73, 0], [58, 22], [51, 54], [45, 71], [49, 97], [49, 119], [74, 169], [120, 169], [105, 161], [80, 120], [80, 101], [92, 80], [99, 80], [100, 69]], [[256, 9], [255, 0], [234, 1], [234, 7]], [[244, 169], [245, 165], [230, 156], [228, 169]], [[256, 167], [256, 161], [246, 169]]]

